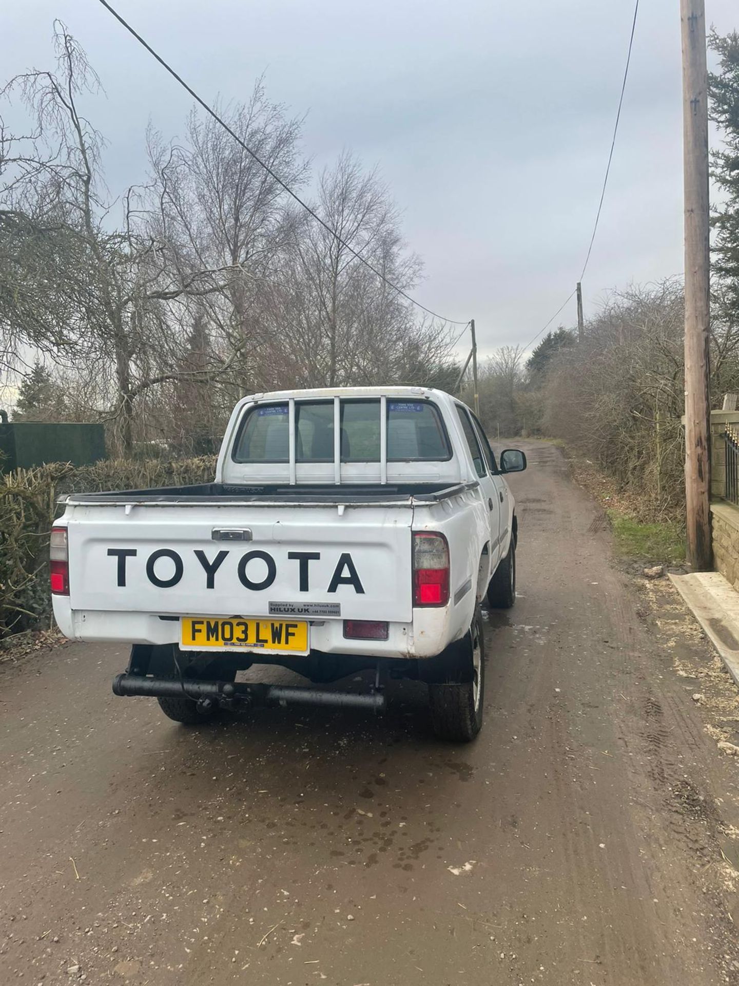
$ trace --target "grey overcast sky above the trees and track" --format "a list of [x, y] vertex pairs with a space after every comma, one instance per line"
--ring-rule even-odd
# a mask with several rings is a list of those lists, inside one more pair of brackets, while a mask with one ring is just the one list
[[[570, 294], [603, 180], [632, 0], [115, 0], [200, 95], [271, 99], [306, 114], [317, 168], [350, 148], [378, 165], [425, 261], [415, 296], [474, 317], [490, 351], [527, 343]], [[583, 293], [682, 271], [682, 106], [677, 0], [642, 0], [609, 189]], [[736, 0], [706, 0], [719, 32]], [[182, 133], [190, 100], [97, 0], [3, 5], [9, 77], [51, 67], [52, 22], [87, 50], [105, 96], [88, 115], [108, 141], [114, 193], [140, 181], [147, 123]], [[574, 303], [558, 321], [571, 324]], [[556, 323], [555, 323], [556, 324]]]

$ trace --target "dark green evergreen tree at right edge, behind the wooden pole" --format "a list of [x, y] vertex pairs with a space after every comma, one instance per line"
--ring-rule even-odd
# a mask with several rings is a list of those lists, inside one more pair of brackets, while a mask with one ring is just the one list
[[712, 32], [709, 46], [719, 69], [708, 74], [710, 118], [721, 131], [723, 147], [711, 155], [711, 176], [723, 192], [713, 209], [713, 273], [719, 310], [739, 322], [739, 34]]

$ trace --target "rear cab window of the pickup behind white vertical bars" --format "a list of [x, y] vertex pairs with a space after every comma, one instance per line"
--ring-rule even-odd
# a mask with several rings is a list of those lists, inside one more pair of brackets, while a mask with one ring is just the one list
[[[435, 404], [429, 400], [387, 398], [387, 461], [445, 461], [451, 447]], [[378, 462], [380, 458], [380, 401], [342, 398], [340, 450], [342, 462]], [[334, 459], [333, 400], [296, 400], [297, 462]], [[287, 401], [250, 408], [241, 421], [235, 462], [288, 462], [290, 407]]]

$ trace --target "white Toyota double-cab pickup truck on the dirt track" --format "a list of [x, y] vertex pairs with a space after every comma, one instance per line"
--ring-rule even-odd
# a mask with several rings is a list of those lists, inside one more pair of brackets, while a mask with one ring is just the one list
[[[429, 685], [438, 736], [483, 717], [480, 604], [515, 599], [517, 522], [474, 414], [424, 387], [255, 393], [216, 479], [71, 495], [51, 532], [54, 615], [74, 640], [132, 644], [116, 695], [193, 724], [256, 701], [379, 709], [387, 676]], [[280, 665], [313, 684], [236, 680]], [[253, 677], [253, 675], [249, 675]]]

